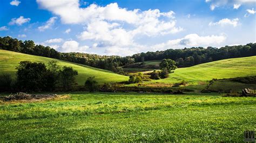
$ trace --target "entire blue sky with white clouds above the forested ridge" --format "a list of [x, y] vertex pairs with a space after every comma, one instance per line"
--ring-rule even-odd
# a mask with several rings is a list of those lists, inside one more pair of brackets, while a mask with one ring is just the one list
[[256, 0], [0, 0], [0, 37], [132, 55], [256, 42]]

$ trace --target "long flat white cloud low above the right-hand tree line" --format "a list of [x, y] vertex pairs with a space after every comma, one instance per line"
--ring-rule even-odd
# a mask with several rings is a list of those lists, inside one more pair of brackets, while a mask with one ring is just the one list
[[151, 48], [156, 50], [166, 49], [166, 48], [184, 48], [188, 47], [207, 47], [214, 46], [216, 44], [221, 44], [226, 40], [225, 35], [207, 35], [207, 36], [199, 36], [198, 34], [188, 34], [184, 38], [169, 40], [162, 44], [157, 44], [152, 46]]

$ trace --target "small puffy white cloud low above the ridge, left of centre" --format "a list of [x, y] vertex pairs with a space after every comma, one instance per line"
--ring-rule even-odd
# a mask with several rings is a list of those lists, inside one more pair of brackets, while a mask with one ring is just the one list
[[60, 51], [62, 52], [85, 52], [88, 46], [79, 46], [79, 43], [74, 40], [65, 41]]

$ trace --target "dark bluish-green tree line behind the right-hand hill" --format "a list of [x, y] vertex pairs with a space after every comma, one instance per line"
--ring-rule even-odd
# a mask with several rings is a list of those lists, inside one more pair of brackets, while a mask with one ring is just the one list
[[221, 48], [192, 47], [184, 49], [167, 49], [165, 51], [138, 53], [131, 57], [135, 62], [172, 59], [176, 61], [178, 67], [190, 67], [200, 63], [254, 55], [256, 55], [256, 43], [250, 43], [244, 46], [225, 46]]

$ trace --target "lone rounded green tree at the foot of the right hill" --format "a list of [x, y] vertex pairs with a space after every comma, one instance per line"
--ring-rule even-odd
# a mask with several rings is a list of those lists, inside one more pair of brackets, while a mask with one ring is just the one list
[[161, 63], [159, 64], [160, 66], [160, 77], [161, 78], [166, 78], [169, 76], [170, 73], [173, 73], [174, 70], [177, 68], [176, 66], [176, 62], [171, 60], [171, 59], [164, 59], [161, 61]]

